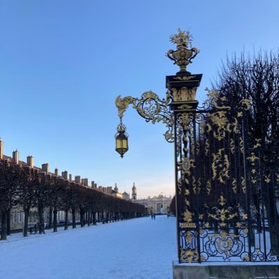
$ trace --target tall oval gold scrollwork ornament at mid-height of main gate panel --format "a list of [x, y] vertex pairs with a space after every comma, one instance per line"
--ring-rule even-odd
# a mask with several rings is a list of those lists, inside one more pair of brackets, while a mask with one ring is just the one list
[[218, 153], [212, 153], [213, 163], [211, 165], [213, 176], [212, 179], [218, 179], [220, 183], [225, 184], [225, 180], [229, 179], [229, 159], [225, 154], [225, 149], [219, 149]]

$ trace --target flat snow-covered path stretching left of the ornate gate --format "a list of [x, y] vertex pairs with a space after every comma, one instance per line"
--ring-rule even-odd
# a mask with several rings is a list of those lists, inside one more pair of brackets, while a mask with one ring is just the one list
[[[17, 241], [18, 240], [18, 241]], [[1, 279], [167, 279], [175, 218], [157, 216], [0, 242]]]

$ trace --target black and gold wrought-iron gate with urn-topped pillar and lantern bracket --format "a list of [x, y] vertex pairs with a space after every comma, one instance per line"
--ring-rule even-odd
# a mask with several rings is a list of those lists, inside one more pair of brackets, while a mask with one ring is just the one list
[[180, 71], [167, 76], [166, 98], [119, 96], [116, 107], [120, 119], [132, 104], [147, 122], [163, 122], [165, 139], [174, 142], [179, 262], [279, 261], [278, 139], [252, 137], [250, 100], [231, 107], [209, 91], [197, 107], [202, 75], [186, 66], [199, 50], [189, 32], [170, 40], [176, 50], [167, 56]]

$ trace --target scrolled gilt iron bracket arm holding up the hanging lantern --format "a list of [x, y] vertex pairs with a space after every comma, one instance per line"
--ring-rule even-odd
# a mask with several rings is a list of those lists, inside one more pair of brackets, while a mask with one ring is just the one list
[[174, 142], [174, 115], [169, 110], [169, 103], [172, 98], [167, 92], [165, 99], [160, 99], [158, 95], [152, 91], [147, 91], [142, 94], [142, 98], [124, 97], [118, 96], [115, 104], [119, 110], [119, 117], [123, 116], [128, 105], [132, 104], [133, 108], [137, 110], [138, 114], [142, 116], [146, 122], [151, 123], [163, 122], [167, 128], [164, 134], [167, 142]]

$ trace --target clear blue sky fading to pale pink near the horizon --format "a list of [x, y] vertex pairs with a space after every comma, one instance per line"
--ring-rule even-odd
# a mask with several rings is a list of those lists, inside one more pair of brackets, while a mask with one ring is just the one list
[[4, 153], [81, 175], [139, 197], [174, 195], [174, 146], [162, 123], [130, 108], [123, 117], [130, 150], [114, 150], [116, 96], [165, 97], [178, 68], [165, 53], [178, 28], [201, 52], [198, 99], [226, 54], [277, 50], [278, 0], [1, 0], [0, 137]]

